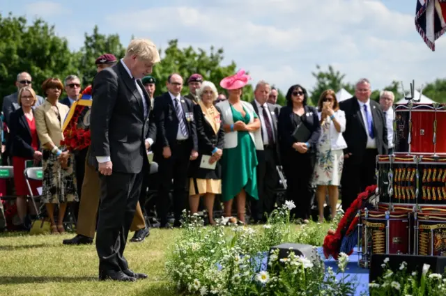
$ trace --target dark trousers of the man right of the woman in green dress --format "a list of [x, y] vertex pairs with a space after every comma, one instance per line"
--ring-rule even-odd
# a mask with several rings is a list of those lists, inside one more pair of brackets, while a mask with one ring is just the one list
[[277, 161], [275, 146], [265, 146], [265, 150], [257, 150], [257, 189], [259, 200], [252, 199], [252, 218], [254, 221], [266, 221], [274, 210], [276, 202], [276, 188], [279, 176], [277, 176]]

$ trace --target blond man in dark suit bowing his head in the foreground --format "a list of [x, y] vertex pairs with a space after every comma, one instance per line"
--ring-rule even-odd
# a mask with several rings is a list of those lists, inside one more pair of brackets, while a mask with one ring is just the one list
[[133, 39], [124, 58], [93, 80], [91, 155], [100, 172], [100, 209], [96, 249], [99, 279], [135, 281], [146, 274], [132, 272], [123, 256], [128, 231], [148, 169], [146, 139], [151, 100], [141, 78], [160, 62], [150, 40]]

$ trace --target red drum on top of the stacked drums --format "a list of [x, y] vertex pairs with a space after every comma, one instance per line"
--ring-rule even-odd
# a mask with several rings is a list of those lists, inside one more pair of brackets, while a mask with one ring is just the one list
[[446, 154], [446, 105], [398, 104], [394, 154]]

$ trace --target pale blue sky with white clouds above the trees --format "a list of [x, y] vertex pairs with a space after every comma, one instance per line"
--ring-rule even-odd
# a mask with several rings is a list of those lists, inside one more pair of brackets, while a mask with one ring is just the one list
[[133, 34], [163, 48], [175, 38], [184, 47], [223, 47], [224, 63], [236, 61], [253, 84], [265, 79], [283, 91], [296, 83], [311, 90], [316, 64], [333, 65], [346, 81], [367, 77], [380, 89], [394, 79], [420, 86], [446, 76], [446, 37], [436, 52], [424, 44], [415, 30], [416, 1], [0, 0], [0, 13], [42, 17], [72, 49], [98, 24], [100, 33], [118, 33], [124, 46]]

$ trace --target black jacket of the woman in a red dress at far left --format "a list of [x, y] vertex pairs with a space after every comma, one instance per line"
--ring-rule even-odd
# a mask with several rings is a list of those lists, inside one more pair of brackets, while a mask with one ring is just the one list
[[[10, 114], [10, 123], [13, 127], [10, 129], [12, 156], [32, 158], [35, 151], [31, 147], [33, 137], [22, 108]], [[40, 141], [38, 141], [38, 146], [40, 147]]]

